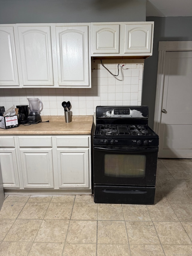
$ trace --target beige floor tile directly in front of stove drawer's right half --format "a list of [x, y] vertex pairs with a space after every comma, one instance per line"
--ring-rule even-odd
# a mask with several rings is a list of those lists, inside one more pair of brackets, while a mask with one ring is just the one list
[[151, 217], [146, 205], [122, 204], [126, 221], [150, 221]]

